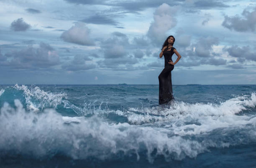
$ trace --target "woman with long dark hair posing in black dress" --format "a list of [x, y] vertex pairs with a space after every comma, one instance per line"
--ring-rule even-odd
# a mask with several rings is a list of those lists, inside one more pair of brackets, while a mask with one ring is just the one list
[[[159, 54], [160, 58], [162, 58], [162, 56], [164, 55], [164, 69], [158, 76], [159, 104], [165, 104], [174, 99], [172, 94], [172, 70], [174, 69], [174, 65], [177, 64], [177, 62], [181, 58], [176, 48], [173, 47], [174, 41], [174, 36], [169, 36], [168, 38], [166, 38], [162, 46], [162, 51]], [[172, 61], [172, 55], [174, 53], [178, 56], [175, 62]]]

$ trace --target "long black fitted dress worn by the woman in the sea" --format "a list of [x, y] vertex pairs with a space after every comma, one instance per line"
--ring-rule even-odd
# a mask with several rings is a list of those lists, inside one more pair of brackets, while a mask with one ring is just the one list
[[164, 69], [161, 74], [158, 76], [159, 79], [159, 104], [165, 104], [170, 102], [173, 97], [172, 93], [172, 70], [174, 65], [168, 64], [169, 60], [172, 60], [172, 55], [174, 54], [174, 47], [165, 48], [164, 50]]

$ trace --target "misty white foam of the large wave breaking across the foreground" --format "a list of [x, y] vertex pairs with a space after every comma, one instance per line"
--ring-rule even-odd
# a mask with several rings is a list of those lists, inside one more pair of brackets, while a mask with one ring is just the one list
[[64, 120], [74, 119], [64, 117], [63, 120], [54, 110], [45, 110], [40, 114], [27, 113], [19, 100], [15, 100], [15, 106], [16, 110], [5, 103], [1, 108], [1, 151], [15, 151], [35, 158], [65, 153], [74, 159], [89, 156], [105, 159], [120, 151], [133, 151], [138, 155], [140, 145], [143, 144], [148, 151], [148, 159], [152, 162], [154, 156], [151, 153], [155, 148], [155, 155], [165, 155], [166, 159], [195, 157], [207, 150], [207, 147], [197, 141], [177, 136], [168, 137], [161, 129], [128, 123], [109, 125], [98, 117], [79, 118], [79, 124], [70, 126], [64, 125]]

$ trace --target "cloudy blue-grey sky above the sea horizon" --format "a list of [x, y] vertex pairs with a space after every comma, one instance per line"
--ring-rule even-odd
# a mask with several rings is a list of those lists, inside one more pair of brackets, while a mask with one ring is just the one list
[[[255, 0], [0, 0], [0, 84], [256, 84]], [[174, 54], [173, 59], [177, 56]]]

